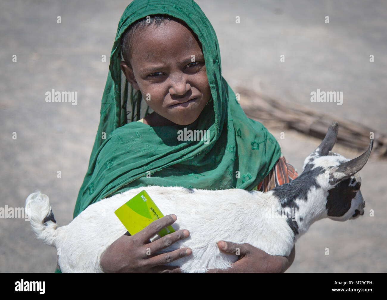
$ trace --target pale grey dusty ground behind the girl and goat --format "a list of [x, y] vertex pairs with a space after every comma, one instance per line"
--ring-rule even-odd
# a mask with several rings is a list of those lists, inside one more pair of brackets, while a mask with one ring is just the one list
[[[197, 1], [214, 26], [223, 76], [249, 82], [386, 131], [386, 2]], [[221, 3], [221, 5], [219, 5]], [[60, 225], [72, 220], [99, 121], [101, 96], [120, 15], [127, 1], [2, 1], [0, 4], [0, 207], [23, 207], [40, 189]], [[236, 16], [240, 24], [235, 23]], [[330, 16], [330, 23], [324, 17]], [[57, 16], [62, 23], [57, 24]], [[279, 56], [285, 55], [285, 62]], [[12, 62], [17, 55], [17, 62]], [[370, 63], [369, 56], [375, 62]], [[46, 103], [51, 89], [78, 91], [78, 105]], [[310, 92], [343, 91], [342, 106], [312, 103]], [[237, 91], [235, 91], [237, 92]], [[17, 139], [12, 139], [13, 133]], [[320, 140], [272, 131], [301, 171]], [[358, 153], [334, 148], [348, 158]], [[57, 171], [62, 177], [57, 178]], [[361, 171], [366, 211], [355, 221], [322, 220], [296, 244], [288, 272], [386, 272], [387, 162]], [[330, 255], [326, 256], [325, 248]], [[0, 272], [53, 272], [56, 251], [34, 239], [29, 222], [0, 219]]]

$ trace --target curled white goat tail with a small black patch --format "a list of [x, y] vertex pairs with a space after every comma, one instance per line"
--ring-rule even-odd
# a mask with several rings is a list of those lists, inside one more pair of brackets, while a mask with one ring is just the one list
[[25, 211], [30, 218], [31, 228], [36, 237], [47, 245], [55, 247], [57, 221], [54, 219], [48, 196], [40, 191], [32, 193], [26, 199]]

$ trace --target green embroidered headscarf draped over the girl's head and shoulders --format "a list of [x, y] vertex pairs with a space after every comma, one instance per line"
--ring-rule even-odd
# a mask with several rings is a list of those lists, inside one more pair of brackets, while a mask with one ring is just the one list
[[[132, 22], [154, 14], [183, 20], [202, 44], [213, 101], [187, 126], [151, 127], [131, 122], [135, 117], [143, 118], [149, 111], [141, 94], [132, 88], [121, 71], [120, 39]], [[118, 23], [109, 70], [98, 132], [74, 218], [100, 199], [141, 186], [251, 190], [269, 174], [280, 157], [276, 139], [261, 123], [247, 118], [221, 76], [215, 31], [194, 1], [135, 0], [130, 3]], [[178, 141], [178, 130], [185, 127], [187, 131], [209, 130], [209, 142]]]

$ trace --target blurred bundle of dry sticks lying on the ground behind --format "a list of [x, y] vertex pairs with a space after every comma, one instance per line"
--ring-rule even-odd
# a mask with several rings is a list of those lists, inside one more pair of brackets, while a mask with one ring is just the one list
[[245, 87], [235, 89], [238, 101], [248, 118], [264, 124], [266, 128], [293, 129], [305, 135], [324, 138], [332, 122], [340, 124], [337, 143], [364, 150], [374, 138], [373, 152], [380, 158], [387, 157], [387, 136], [367, 126], [328, 114], [323, 114], [295, 102], [285, 102]]

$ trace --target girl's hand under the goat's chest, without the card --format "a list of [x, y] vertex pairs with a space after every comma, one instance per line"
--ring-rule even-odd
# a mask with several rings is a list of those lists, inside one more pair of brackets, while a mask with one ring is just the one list
[[210, 269], [208, 273], [284, 273], [294, 261], [296, 248], [293, 247], [289, 257], [267, 254], [250, 244], [217, 242], [219, 250], [226, 254], [235, 254], [239, 248], [240, 257], [231, 268], [226, 270]]

